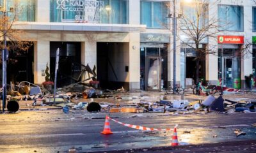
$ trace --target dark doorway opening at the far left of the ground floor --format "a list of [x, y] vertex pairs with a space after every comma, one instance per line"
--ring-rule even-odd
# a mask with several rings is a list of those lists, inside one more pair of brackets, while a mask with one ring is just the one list
[[[6, 79], [10, 82], [34, 82], [33, 74], [34, 45], [32, 44], [27, 51], [10, 50], [7, 61]], [[2, 69], [2, 66], [1, 66]], [[2, 80], [2, 79], [1, 79]]]

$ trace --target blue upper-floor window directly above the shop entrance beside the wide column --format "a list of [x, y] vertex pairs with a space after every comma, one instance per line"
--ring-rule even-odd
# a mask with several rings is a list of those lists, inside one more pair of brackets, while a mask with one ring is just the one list
[[170, 27], [170, 2], [141, 1], [140, 23], [148, 28], [168, 29]]

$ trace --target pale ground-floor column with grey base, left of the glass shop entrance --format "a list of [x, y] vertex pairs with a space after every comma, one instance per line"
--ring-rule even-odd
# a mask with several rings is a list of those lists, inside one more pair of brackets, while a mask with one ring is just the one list
[[140, 89], [140, 33], [130, 33], [129, 90]]

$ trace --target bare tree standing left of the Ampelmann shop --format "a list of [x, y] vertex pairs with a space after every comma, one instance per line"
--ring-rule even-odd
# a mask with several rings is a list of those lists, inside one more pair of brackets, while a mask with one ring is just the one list
[[[209, 0], [195, 0], [193, 4], [182, 4], [180, 18], [180, 33], [186, 36], [187, 41], [180, 39], [182, 44], [193, 48], [196, 52], [196, 82], [199, 81], [200, 61], [207, 54], [218, 54], [216, 47], [200, 47], [205, 39], [215, 38], [220, 33], [218, 18], [209, 15]], [[189, 10], [189, 11], [188, 11]]]

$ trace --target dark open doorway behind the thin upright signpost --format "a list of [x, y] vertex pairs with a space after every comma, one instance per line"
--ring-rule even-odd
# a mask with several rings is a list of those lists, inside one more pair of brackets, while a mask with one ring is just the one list
[[50, 42], [50, 74], [54, 80], [56, 50], [60, 48], [57, 87], [79, 82], [81, 73], [81, 43], [80, 42]]

